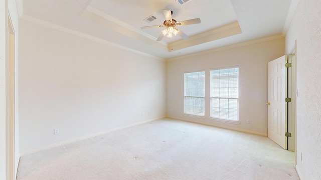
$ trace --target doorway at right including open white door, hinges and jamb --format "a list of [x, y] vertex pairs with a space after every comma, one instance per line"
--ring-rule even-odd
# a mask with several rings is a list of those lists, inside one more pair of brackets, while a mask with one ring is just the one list
[[296, 56], [290, 54], [268, 63], [268, 137], [282, 148], [295, 150]]

